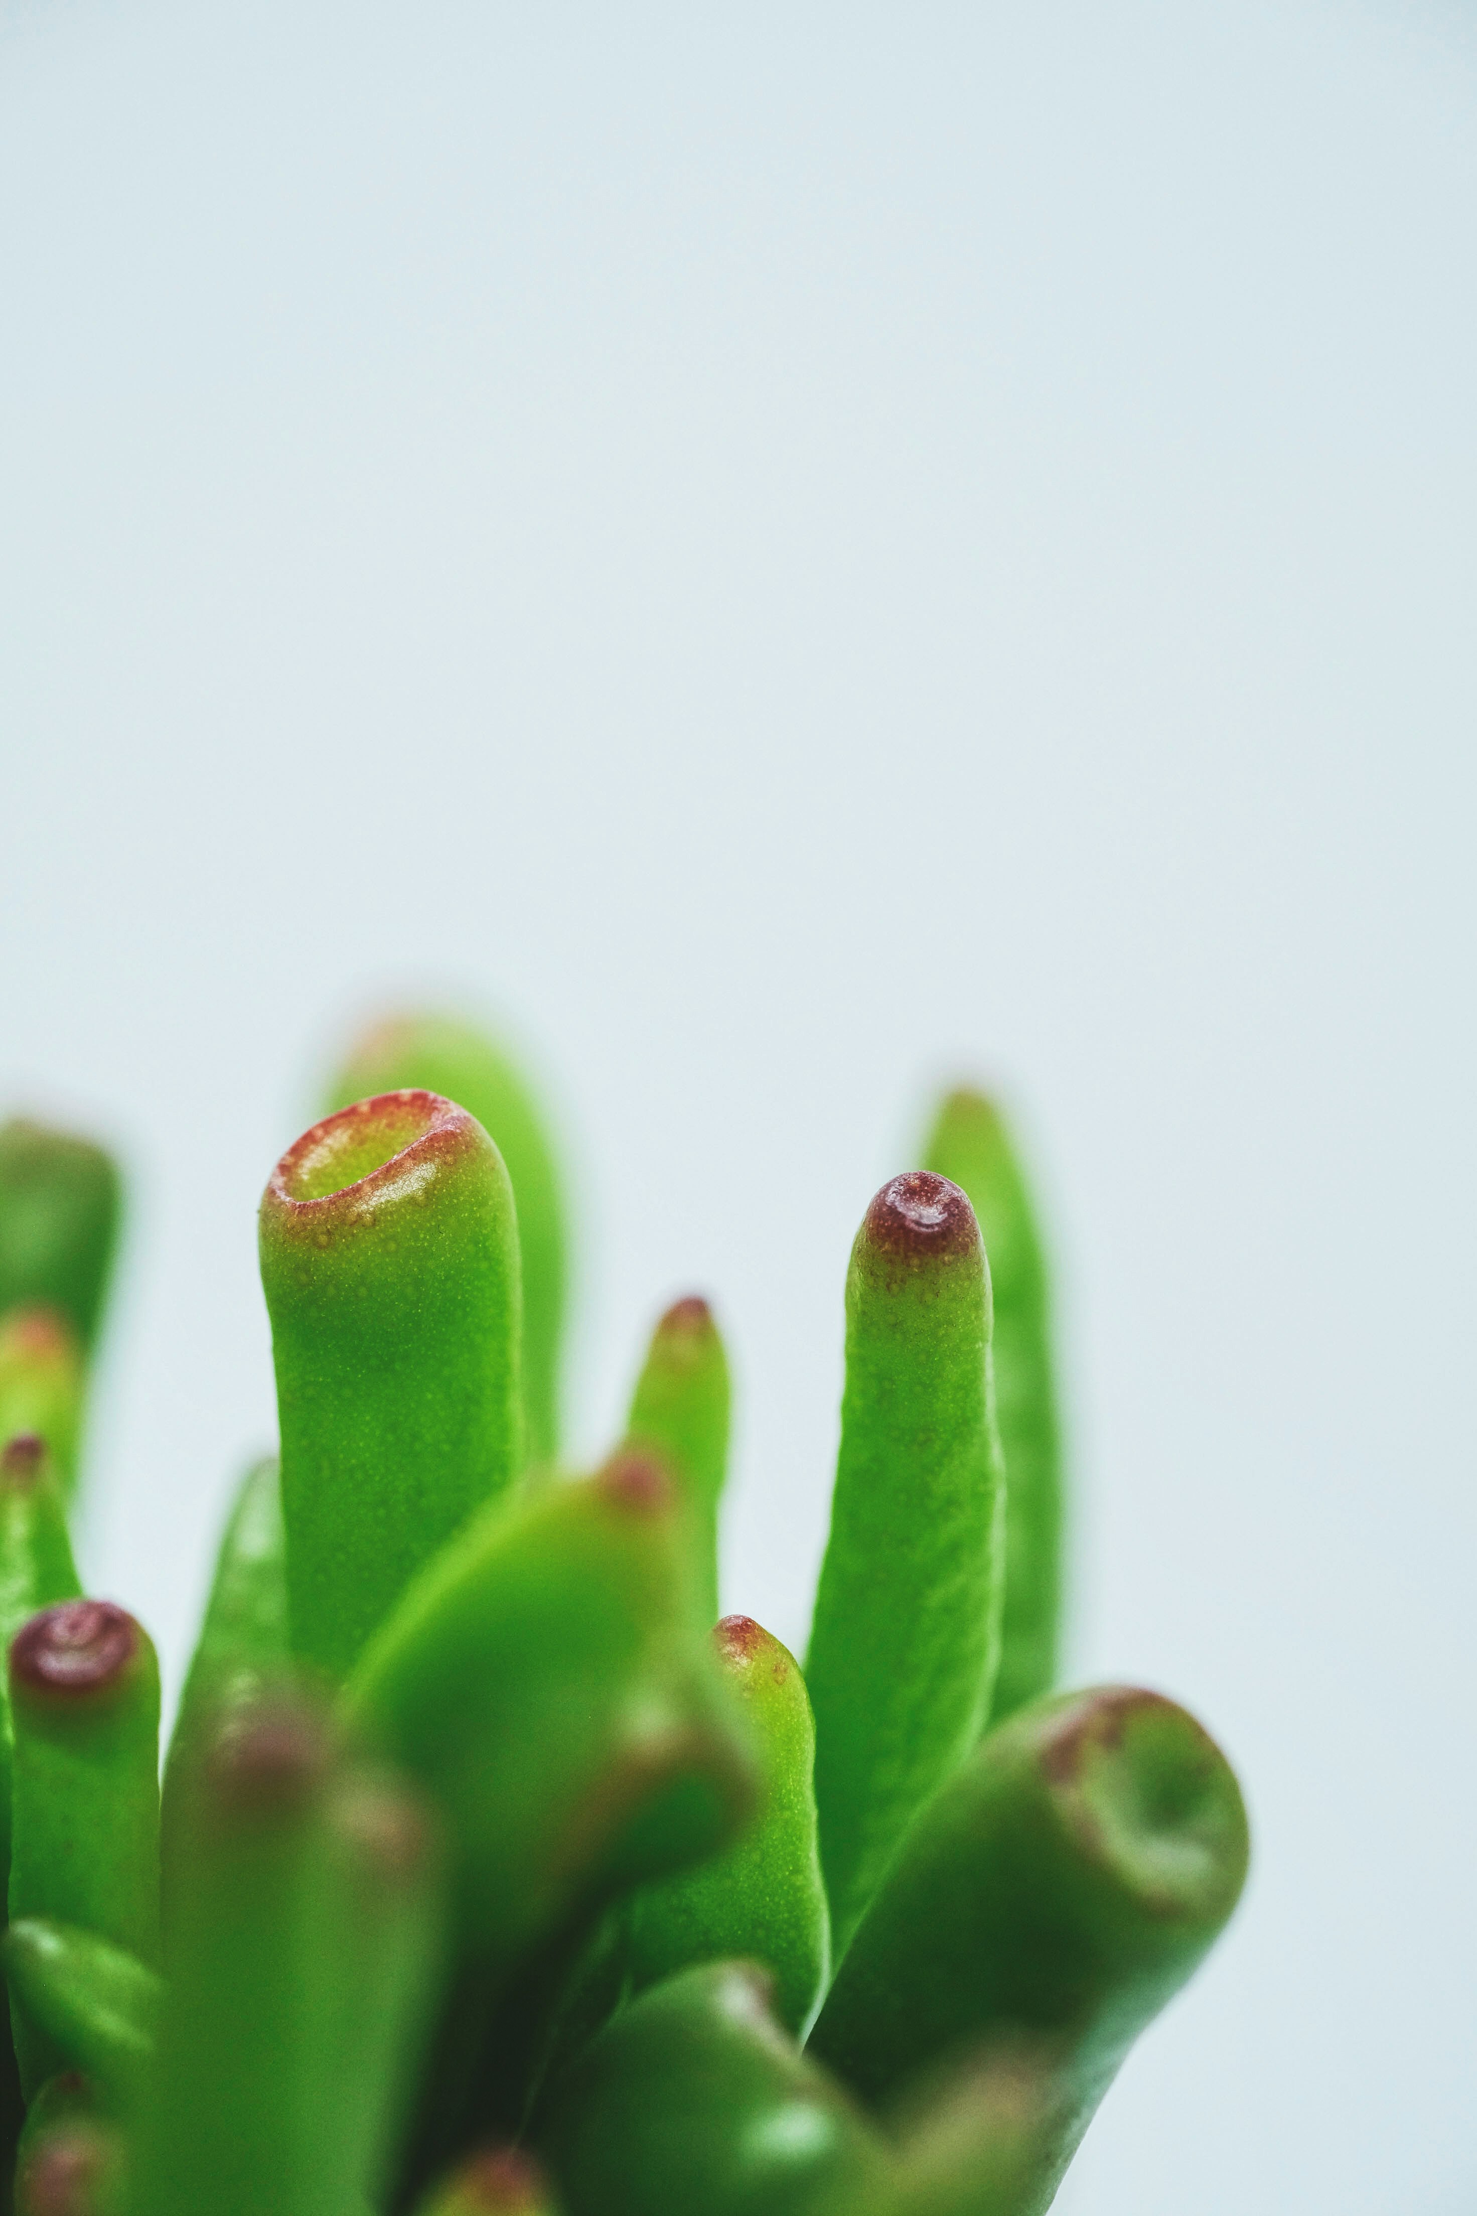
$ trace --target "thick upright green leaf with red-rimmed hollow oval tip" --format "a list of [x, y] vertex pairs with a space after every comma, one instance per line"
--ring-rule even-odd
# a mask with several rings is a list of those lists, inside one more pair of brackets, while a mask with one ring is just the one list
[[292, 1646], [343, 1678], [412, 1576], [520, 1469], [518, 1230], [463, 1108], [314, 1124], [261, 1199]]

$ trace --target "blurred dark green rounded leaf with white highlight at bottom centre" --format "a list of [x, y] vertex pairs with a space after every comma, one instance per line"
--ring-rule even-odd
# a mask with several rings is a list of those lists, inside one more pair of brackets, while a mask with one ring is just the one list
[[540, 2130], [569, 2216], [802, 2216], [861, 2198], [888, 2152], [786, 2039], [746, 1963], [633, 2001], [569, 2072]]

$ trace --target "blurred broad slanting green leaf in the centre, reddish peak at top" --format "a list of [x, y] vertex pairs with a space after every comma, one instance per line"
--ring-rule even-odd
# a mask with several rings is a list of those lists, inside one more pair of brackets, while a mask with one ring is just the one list
[[365, 1653], [345, 1717], [441, 1810], [461, 1939], [489, 1963], [582, 1899], [713, 1853], [753, 1804], [682, 1505], [633, 1451], [450, 1547]]

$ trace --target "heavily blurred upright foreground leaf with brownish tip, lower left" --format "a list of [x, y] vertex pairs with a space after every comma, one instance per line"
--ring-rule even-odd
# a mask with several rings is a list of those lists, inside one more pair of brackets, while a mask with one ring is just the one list
[[352, 2207], [330, 1782], [321, 1720], [286, 1695], [237, 1711], [204, 1768], [135, 2143], [148, 2216]]

